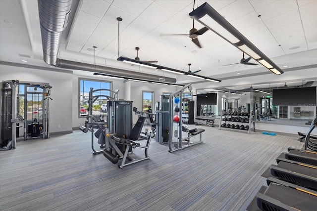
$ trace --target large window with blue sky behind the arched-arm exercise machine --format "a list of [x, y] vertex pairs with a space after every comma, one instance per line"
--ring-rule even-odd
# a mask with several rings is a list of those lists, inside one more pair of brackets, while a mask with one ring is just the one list
[[[88, 115], [88, 99], [90, 88], [93, 90], [97, 89], [111, 89], [111, 82], [107, 81], [98, 81], [98, 80], [88, 80], [88, 79], [79, 79], [79, 116]], [[100, 90], [93, 92], [93, 96], [97, 95], [106, 95], [113, 97], [113, 94], [108, 90]], [[100, 96], [92, 105], [93, 115], [103, 115], [106, 114], [106, 104], [107, 98], [105, 96]]]

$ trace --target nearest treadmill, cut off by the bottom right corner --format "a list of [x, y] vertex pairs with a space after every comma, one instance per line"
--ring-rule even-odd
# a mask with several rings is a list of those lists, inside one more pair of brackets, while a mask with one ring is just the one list
[[317, 191], [267, 178], [268, 187], [258, 192], [258, 207], [263, 211], [314, 211], [317, 208]]

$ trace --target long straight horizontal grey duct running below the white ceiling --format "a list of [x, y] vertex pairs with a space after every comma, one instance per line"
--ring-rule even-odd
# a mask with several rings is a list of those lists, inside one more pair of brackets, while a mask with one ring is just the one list
[[111, 67], [104, 67], [100, 65], [96, 65], [95, 67], [95, 65], [93, 64], [86, 64], [82, 62], [75, 62], [75, 61], [69, 61], [69, 60], [58, 59], [58, 58], [56, 62], [57, 62], [56, 65], [54, 65], [55, 67], [64, 68], [64, 69], [84, 70], [89, 72], [109, 74], [113, 76], [127, 77], [127, 78], [133, 78], [133, 79], [143, 79], [143, 80], [165, 82], [165, 83], [172, 83], [172, 84], [176, 82], [176, 79], [173, 79], [173, 78], [121, 70], [121, 69], [111, 68]]

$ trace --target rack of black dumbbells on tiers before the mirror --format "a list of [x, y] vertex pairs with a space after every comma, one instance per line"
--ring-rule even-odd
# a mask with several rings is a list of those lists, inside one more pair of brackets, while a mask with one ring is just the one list
[[[243, 120], [243, 122], [241, 122], [241, 120]], [[222, 124], [227, 125], [227, 122], [234, 122], [234, 123], [240, 123], [240, 124], [246, 123], [247, 126], [249, 127], [248, 130], [246, 130], [246, 129], [240, 129], [240, 130], [248, 131], [248, 134], [251, 134], [251, 130], [256, 131], [256, 124], [255, 124], [255, 118], [254, 118], [253, 111], [250, 111], [250, 114], [248, 114], [248, 113], [243, 113], [243, 114], [236, 114], [236, 113], [222, 114], [221, 113], [220, 122], [219, 122], [219, 129], [221, 129], [221, 128], [229, 128], [230, 129], [230, 127], [221, 127]], [[237, 130], [238, 128], [237, 129], [236, 128], [231, 128], [231, 129]]]

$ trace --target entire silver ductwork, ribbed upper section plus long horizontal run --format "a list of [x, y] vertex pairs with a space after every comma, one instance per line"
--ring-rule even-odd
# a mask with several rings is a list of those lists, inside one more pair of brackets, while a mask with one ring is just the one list
[[61, 33], [65, 29], [72, 0], [38, 0], [44, 61], [52, 66], [98, 72], [113, 76], [176, 83], [176, 79], [57, 58]]

